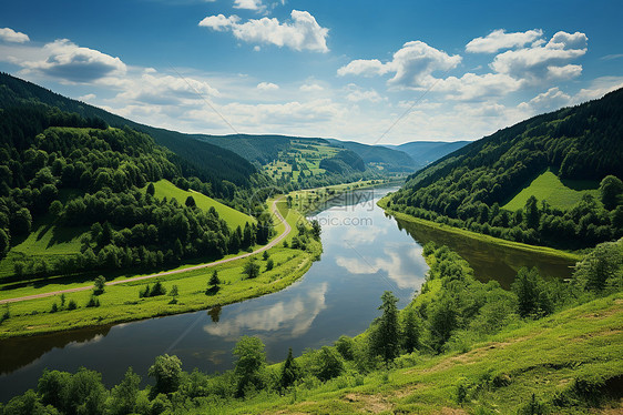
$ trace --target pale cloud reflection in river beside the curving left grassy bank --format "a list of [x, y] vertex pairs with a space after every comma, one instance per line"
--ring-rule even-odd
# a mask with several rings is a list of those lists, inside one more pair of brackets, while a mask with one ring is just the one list
[[[203, 330], [212, 335], [235, 341], [243, 333], [254, 333], [258, 336], [273, 336], [279, 332], [282, 340], [298, 337], [309, 330], [316, 316], [325, 310], [327, 283], [321, 283], [312, 290], [287, 301], [278, 301], [263, 310], [241, 311], [217, 324], [207, 324]], [[274, 338], [274, 337], [272, 337]]]

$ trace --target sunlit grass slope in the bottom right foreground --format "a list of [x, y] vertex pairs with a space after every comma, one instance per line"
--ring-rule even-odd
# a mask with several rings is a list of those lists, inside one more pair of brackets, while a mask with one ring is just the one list
[[[226, 409], [231, 414], [517, 414], [533, 393], [551, 407], [554, 396], [572, 389], [575, 382], [614, 386], [623, 376], [622, 317], [619, 293], [539, 321], [519, 322], [462, 352], [405, 355], [397, 360], [397, 368], [365, 376], [347, 373], [324, 384], [303, 384], [285, 396], [228, 401]], [[458, 402], [459, 386], [467, 392], [463, 403]], [[576, 405], [555, 413], [621, 413], [620, 405], [590, 411]], [[204, 407], [195, 413], [219, 411], [223, 407]]]

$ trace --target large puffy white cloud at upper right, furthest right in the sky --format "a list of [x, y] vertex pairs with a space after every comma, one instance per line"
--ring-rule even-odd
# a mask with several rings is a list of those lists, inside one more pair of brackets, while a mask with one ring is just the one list
[[582, 67], [569, 61], [586, 53], [584, 33], [558, 32], [545, 45], [509, 50], [498, 54], [491, 69], [530, 83], [544, 80], [571, 79], [582, 72]]

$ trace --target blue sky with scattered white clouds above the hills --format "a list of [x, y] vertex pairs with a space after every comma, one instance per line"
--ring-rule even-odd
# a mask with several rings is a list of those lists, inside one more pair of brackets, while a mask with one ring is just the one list
[[184, 132], [474, 140], [623, 85], [621, 1], [6, 2], [0, 70]]

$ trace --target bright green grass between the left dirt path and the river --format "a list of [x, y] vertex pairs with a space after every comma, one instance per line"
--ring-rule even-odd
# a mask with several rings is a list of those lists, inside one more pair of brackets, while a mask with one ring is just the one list
[[[300, 213], [287, 210], [285, 203], [278, 204], [278, 209], [287, 214], [286, 220], [295, 230], [287, 239], [289, 243], [289, 240], [296, 234], [296, 223], [304, 219]], [[283, 232], [284, 229], [283, 223], [277, 226], [279, 232]], [[54, 303], [60, 306], [60, 295], [11, 303], [9, 305], [11, 317], [0, 325], [0, 338], [178, 314], [268, 294], [285, 289], [303, 276], [312, 266], [315, 257], [321, 252], [321, 245], [319, 242], [312, 242], [308, 244], [307, 251], [300, 251], [284, 247], [283, 243], [279, 243], [268, 252], [274, 261], [274, 269], [266, 271], [266, 262], [262, 260], [262, 255], [255, 255], [262, 271], [255, 280], [244, 279], [243, 267], [248, 259], [242, 259], [210, 269], [106, 286], [104, 294], [99, 296], [100, 307], [85, 307], [91, 291], [65, 294], [67, 302], [73, 300], [79, 306], [78, 310], [73, 311], [65, 310], [50, 313]], [[214, 270], [218, 271], [222, 281], [221, 290], [215, 295], [206, 295], [207, 282]], [[122, 275], [115, 280], [130, 276], [139, 275]], [[176, 304], [171, 304], [173, 297], [170, 295], [150, 298], [139, 297], [140, 290], [147, 284], [153, 286], [157, 281], [162, 282], [168, 291], [173, 285], [177, 285]], [[84, 282], [49, 283], [43, 286], [28, 285], [10, 291], [0, 291], [0, 300], [80, 286], [84, 286]]]

